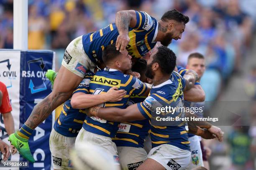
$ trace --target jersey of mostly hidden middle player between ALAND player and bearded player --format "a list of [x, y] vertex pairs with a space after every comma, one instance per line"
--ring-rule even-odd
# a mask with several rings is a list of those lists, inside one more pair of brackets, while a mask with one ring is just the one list
[[[132, 94], [128, 101], [128, 105], [143, 102], [147, 96], [139, 96]], [[119, 129], [113, 139], [116, 146], [128, 146], [143, 148], [145, 138], [148, 136], [150, 128], [149, 120], [136, 120], [133, 122], [121, 122]]]

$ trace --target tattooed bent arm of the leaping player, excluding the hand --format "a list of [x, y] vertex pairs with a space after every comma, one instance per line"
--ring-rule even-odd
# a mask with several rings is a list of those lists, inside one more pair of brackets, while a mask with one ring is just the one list
[[[134, 14], [133, 14], [134, 13]], [[135, 11], [133, 10], [122, 10], [118, 11], [115, 15], [115, 25], [118, 28], [119, 34], [128, 34], [129, 26], [135, 26], [131, 21], [134, 20], [133, 15], [135, 15]]]

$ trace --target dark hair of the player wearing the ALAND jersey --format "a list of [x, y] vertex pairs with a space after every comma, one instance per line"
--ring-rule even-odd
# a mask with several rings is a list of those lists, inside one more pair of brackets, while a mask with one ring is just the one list
[[108, 45], [104, 48], [102, 52], [102, 60], [105, 64], [113, 61], [118, 55], [120, 55], [119, 50], [116, 50], [115, 43]]

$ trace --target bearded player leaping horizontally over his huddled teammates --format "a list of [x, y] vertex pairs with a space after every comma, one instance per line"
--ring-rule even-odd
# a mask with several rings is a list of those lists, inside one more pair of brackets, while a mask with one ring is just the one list
[[[117, 50], [123, 51], [127, 47], [129, 55], [140, 58], [150, 51], [156, 42], [167, 46], [172, 39], [180, 39], [188, 21], [189, 18], [177, 10], [167, 11], [159, 21], [145, 12], [125, 10], [116, 14], [115, 24], [74, 39], [64, 53], [53, 91], [34, 107], [22, 126], [23, 129], [29, 130], [28, 134], [19, 130], [19, 134], [10, 135], [10, 142], [18, 149], [20, 155], [34, 162], [28, 139], [20, 134], [23, 133], [29, 138], [29, 134], [32, 134], [56, 107], [70, 98], [87, 70], [102, 64], [102, 50], [107, 45], [116, 42]], [[19, 145], [23, 147], [20, 148]]]

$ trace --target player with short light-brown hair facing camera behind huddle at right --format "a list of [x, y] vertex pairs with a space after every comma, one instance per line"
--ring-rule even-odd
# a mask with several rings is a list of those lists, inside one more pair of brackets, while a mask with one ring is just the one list
[[[197, 74], [199, 76], [199, 81], [200, 81], [200, 78], [202, 77], [202, 75], [205, 72], [205, 57], [198, 52], [190, 54], [187, 59], [187, 67], [186, 68], [197, 72]], [[179, 71], [180, 75], [184, 75], [187, 70], [184, 69], [183, 67], [178, 67], [178, 71]], [[195, 82], [194, 87], [202, 88], [199, 81]], [[186, 95], [186, 92], [184, 92], [184, 96], [185, 95]], [[204, 105], [205, 105], [204, 101], [203, 102], [190, 102], [190, 101], [184, 100], [184, 107], [204, 108]], [[203, 117], [203, 112], [195, 112], [195, 115], [197, 115], [197, 117]], [[209, 167], [209, 163], [206, 159], [205, 150], [204, 150], [204, 153], [202, 153], [202, 150], [201, 150], [202, 143], [200, 142], [200, 137], [197, 135], [194, 135], [192, 133], [189, 133], [188, 136], [189, 136], [190, 150], [191, 150], [191, 162], [190, 162], [189, 166], [187, 166], [186, 169], [191, 170], [195, 167], [204, 166], [206, 169], [209, 170], [210, 167]]]

